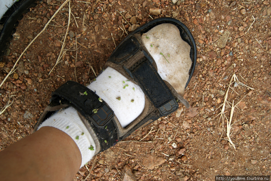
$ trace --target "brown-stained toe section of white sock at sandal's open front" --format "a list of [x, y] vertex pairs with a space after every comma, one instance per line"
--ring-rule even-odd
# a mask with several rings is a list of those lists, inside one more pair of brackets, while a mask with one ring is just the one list
[[164, 23], [144, 33], [141, 38], [154, 58], [161, 78], [183, 95], [192, 61], [190, 46], [182, 40], [179, 29]]

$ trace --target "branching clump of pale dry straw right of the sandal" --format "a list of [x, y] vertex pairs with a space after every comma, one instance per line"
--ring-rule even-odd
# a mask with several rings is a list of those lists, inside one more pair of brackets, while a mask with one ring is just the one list
[[[218, 121], [218, 125], [219, 125], [219, 123], [220, 123], [220, 120], [221, 120], [221, 122], [222, 122], [222, 134], [221, 134], [221, 137], [222, 137], [222, 135], [223, 135], [223, 133], [226, 131], [226, 135], [227, 135], [227, 137], [228, 137], [228, 141], [231, 143], [231, 145], [234, 147], [234, 149], [235, 149], [235, 144], [233, 144], [233, 142], [232, 142], [232, 140], [231, 140], [231, 138], [230, 138], [230, 136], [231, 136], [231, 128], [232, 128], [232, 125], [234, 124], [234, 123], [232, 123], [232, 117], [233, 117], [233, 113], [234, 113], [234, 109], [235, 109], [235, 107], [241, 102], [241, 100], [243, 100], [248, 94], [246, 94], [236, 105], [234, 105], [234, 101], [232, 101], [232, 105], [231, 105], [231, 114], [230, 114], [230, 118], [229, 118], [229, 120], [228, 120], [228, 118], [226, 117], [226, 115], [225, 115], [225, 109], [226, 109], [226, 104], [230, 104], [229, 103], [229, 101], [228, 101], [228, 96], [229, 96], [229, 90], [230, 89], [232, 89], [232, 91], [234, 91], [234, 87], [232, 88], [231, 87], [231, 85], [232, 84], [234, 84], [234, 87], [235, 87], [235, 85], [236, 86], [243, 86], [243, 87], [247, 87], [247, 88], [249, 88], [249, 89], [251, 89], [251, 90], [254, 90], [254, 88], [252, 88], [252, 87], [249, 87], [249, 86], [247, 86], [247, 85], [245, 85], [245, 84], [243, 84], [242, 82], [240, 82], [239, 80], [238, 80], [238, 78], [237, 78], [237, 76], [235, 75], [235, 73], [232, 75], [232, 78], [231, 78], [231, 80], [230, 80], [230, 82], [229, 82], [229, 86], [228, 86], [228, 89], [227, 89], [227, 92], [226, 92], [226, 94], [225, 94], [225, 97], [224, 97], [224, 102], [223, 102], [223, 104], [221, 104], [217, 109], [219, 109], [221, 106], [222, 106], [222, 109], [221, 109], [221, 112], [218, 114], [218, 115], [216, 115], [214, 118], [216, 118], [217, 116], [219, 116], [220, 115], [220, 117], [219, 117], [219, 121]], [[234, 91], [236, 94], [238, 94], [236, 91]], [[238, 94], [239, 95], [239, 94]], [[237, 109], [238, 109], [238, 107], [236, 107]], [[217, 110], [216, 109], [216, 110]], [[216, 112], [216, 110], [214, 111], [214, 113]], [[213, 118], [213, 119], [214, 119]], [[213, 120], [212, 119], [212, 120]], [[210, 120], [211, 121], [211, 120]], [[225, 128], [224, 128], [224, 125], [225, 125], [225, 121], [227, 121], [227, 129], [225, 130]], [[206, 121], [205, 123], [207, 123], [207, 122], [209, 122], [209, 121]], [[220, 137], [220, 138], [221, 138]]]

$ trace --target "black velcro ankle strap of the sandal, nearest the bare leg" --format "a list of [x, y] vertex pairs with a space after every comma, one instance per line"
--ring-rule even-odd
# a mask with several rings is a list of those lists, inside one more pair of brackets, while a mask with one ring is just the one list
[[105, 127], [114, 117], [112, 109], [86, 86], [67, 81], [52, 93], [52, 100], [73, 106], [96, 127]]

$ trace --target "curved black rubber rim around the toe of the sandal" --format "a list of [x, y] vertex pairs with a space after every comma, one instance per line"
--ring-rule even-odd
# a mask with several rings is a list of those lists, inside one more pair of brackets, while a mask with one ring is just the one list
[[[180, 31], [180, 35], [181, 35], [182, 39], [185, 42], [187, 42], [191, 47], [190, 58], [192, 60], [192, 65], [191, 65], [191, 68], [189, 71], [188, 81], [185, 84], [185, 88], [186, 88], [192, 78], [192, 75], [193, 75], [193, 72], [195, 70], [195, 66], [197, 63], [197, 48], [196, 48], [196, 43], [195, 43], [195, 40], [193, 38], [192, 33], [189, 31], [189, 29], [182, 22], [180, 22], [179, 20], [176, 20], [174, 18], [170, 18], [170, 17], [157, 18], [157, 19], [151, 20], [148, 23], [145, 23], [142, 26], [135, 29], [132, 33], [130, 33], [128, 36], [126, 36], [123, 39], [123, 41], [126, 41], [128, 38], [135, 35], [136, 33], [143, 34], [145, 32], [148, 32], [148, 30], [152, 29], [154, 26], [157, 26], [157, 25], [163, 24], [163, 23], [171, 23], [171, 24], [174, 24], [175, 26], [177, 26], [177, 28]], [[115, 50], [113, 51], [112, 54], [114, 54], [114, 52], [119, 48], [120, 45], [121, 45], [121, 43], [115, 48]]]

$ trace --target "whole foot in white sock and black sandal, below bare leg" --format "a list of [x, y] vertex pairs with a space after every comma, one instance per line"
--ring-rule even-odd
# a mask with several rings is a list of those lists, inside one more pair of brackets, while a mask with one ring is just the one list
[[[68, 109], [52, 115], [41, 127], [57, 127], [61, 122], [61, 130], [73, 138], [80, 151], [87, 150], [89, 155], [81, 151], [84, 164], [135, 130], [177, 110], [176, 99], [186, 104], [182, 94], [192, 76], [195, 60], [195, 41], [182, 23], [172, 18], [146, 23], [118, 45], [105, 70], [88, 86], [90, 90], [70, 81], [58, 88], [35, 130], [55, 111], [73, 106], [69, 109], [85, 125], [82, 130], [77, 128], [77, 136], [74, 131], [70, 133], [69, 128], [74, 125], [65, 112]], [[91, 139], [87, 134], [82, 135], [86, 130]], [[90, 141], [81, 144], [79, 139]]]

